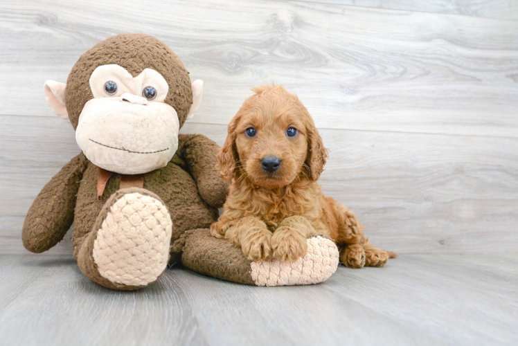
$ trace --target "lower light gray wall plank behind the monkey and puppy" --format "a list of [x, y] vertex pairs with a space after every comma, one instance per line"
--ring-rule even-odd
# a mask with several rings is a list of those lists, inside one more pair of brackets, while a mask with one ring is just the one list
[[[222, 145], [226, 126], [187, 124]], [[365, 232], [399, 253], [518, 248], [518, 140], [323, 129], [323, 192], [355, 210]], [[53, 140], [55, 138], [55, 140]], [[0, 116], [0, 250], [20, 233], [37, 193], [80, 152], [60, 118]], [[70, 253], [71, 235], [51, 253]]]

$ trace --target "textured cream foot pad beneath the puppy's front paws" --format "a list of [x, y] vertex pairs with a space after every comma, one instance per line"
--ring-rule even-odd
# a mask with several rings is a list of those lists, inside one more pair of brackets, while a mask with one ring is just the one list
[[307, 239], [307, 253], [295, 262], [277, 259], [252, 262], [251, 276], [257, 286], [318, 284], [337, 271], [338, 263], [337, 246], [319, 236]]

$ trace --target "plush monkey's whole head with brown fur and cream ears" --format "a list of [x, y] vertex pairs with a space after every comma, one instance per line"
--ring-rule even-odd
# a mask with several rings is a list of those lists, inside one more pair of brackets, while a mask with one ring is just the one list
[[178, 131], [202, 100], [203, 82], [166, 44], [122, 34], [81, 55], [67, 84], [48, 80], [51, 109], [69, 119], [75, 139], [98, 167], [143, 174], [164, 167], [178, 147]]

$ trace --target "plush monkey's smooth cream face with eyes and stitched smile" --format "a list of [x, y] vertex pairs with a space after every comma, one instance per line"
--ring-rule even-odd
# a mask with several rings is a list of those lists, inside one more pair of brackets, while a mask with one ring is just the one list
[[142, 174], [164, 167], [178, 147], [177, 112], [164, 100], [169, 85], [145, 69], [135, 78], [121, 66], [98, 66], [89, 80], [93, 99], [82, 109], [75, 139], [98, 167]]

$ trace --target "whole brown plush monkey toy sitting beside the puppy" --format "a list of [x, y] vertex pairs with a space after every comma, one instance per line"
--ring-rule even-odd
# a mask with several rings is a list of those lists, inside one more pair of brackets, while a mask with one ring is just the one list
[[256, 285], [311, 284], [337, 268], [330, 239], [308, 239], [297, 262], [251, 262], [211, 237], [228, 185], [217, 170], [218, 146], [179, 134], [202, 98], [179, 57], [148, 35], [110, 37], [84, 53], [67, 83], [47, 81], [46, 100], [69, 119], [82, 153], [38, 194], [26, 217], [24, 246], [41, 253], [72, 222], [73, 255], [82, 273], [111, 289], [148, 286], [168, 264]]

